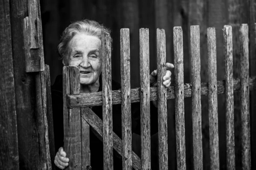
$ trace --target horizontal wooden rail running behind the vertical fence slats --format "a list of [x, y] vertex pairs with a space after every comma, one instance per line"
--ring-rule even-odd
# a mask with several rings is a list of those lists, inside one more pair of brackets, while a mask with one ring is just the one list
[[[225, 81], [218, 81], [218, 94], [225, 93]], [[249, 79], [250, 91], [256, 89], [256, 77]], [[167, 99], [174, 99], [174, 88], [167, 88]], [[239, 91], [240, 79], [234, 79], [234, 91]], [[208, 83], [201, 83], [201, 96], [207, 96]], [[192, 84], [184, 84], [184, 98], [192, 96]], [[150, 101], [157, 100], [157, 87], [150, 88]], [[131, 102], [140, 102], [140, 88], [131, 89]], [[112, 104], [121, 104], [121, 90], [112, 91]], [[102, 105], [102, 91], [90, 94], [67, 94], [67, 108], [79, 108]]]

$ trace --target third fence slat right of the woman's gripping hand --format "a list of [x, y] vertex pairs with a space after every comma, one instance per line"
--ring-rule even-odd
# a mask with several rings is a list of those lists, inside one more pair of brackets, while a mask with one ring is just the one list
[[217, 62], [215, 28], [207, 28], [208, 53], [208, 109], [209, 109], [209, 140], [210, 140], [210, 169], [219, 169], [218, 146], [218, 99], [217, 99]]

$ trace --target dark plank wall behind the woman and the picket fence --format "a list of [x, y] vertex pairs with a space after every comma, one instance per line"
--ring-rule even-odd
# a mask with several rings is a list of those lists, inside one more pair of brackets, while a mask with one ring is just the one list
[[[112, 78], [120, 82], [120, 28], [130, 28], [131, 88], [140, 87], [139, 77], [139, 29], [149, 28], [150, 71], [156, 65], [156, 29], [166, 31], [166, 60], [173, 63], [173, 27], [183, 29], [184, 82], [191, 81], [189, 34], [190, 26], [200, 26], [201, 36], [201, 81], [207, 81], [207, 27], [216, 28], [217, 74], [224, 79], [223, 31], [224, 25], [233, 26], [233, 75], [239, 78], [239, 26], [248, 23], [250, 29], [250, 74], [255, 76], [255, 9], [256, 0], [41, 0], [41, 18], [44, 39], [45, 63], [50, 67], [51, 83], [62, 74], [62, 62], [58, 59], [57, 46], [62, 31], [72, 21], [90, 19], [111, 28], [113, 38]], [[254, 67], [253, 67], [254, 66]], [[172, 70], [173, 72], [173, 70]], [[172, 82], [174, 76], [172, 75]], [[172, 83], [173, 85], [174, 83]], [[254, 92], [255, 94], [255, 92]], [[239, 94], [235, 93], [235, 144], [236, 167], [241, 169], [241, 113]], [[255, 122], [255, 101], [251, 101], [251, 122]], [[168, 151], [169, 169], [176, 167], [174, 101], [168, 101]], [[202, 132], [204, 169], [209, 169], [209, 125], [207, 97], [202, 96]], [[218, 95], [219, 155], [220, 167], [226, 169], [225, 102]], [[192, 115], [191, 99], [185, 99], [186, 163], [192, 169]], [[255, 125], [252, 132], [252, 169], [256, 168]]]

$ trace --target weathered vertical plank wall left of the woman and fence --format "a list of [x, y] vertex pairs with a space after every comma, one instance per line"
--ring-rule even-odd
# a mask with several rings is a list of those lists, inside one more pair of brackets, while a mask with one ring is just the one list
[[[49, 143], [49, 137], [53, 135], [48, 134], [47, 124], [51, 114], [47, 109], [47, 102], [49, 103], [46, 96], [49, 93], [49, 87], [48, 90], [46, 88], [49, 82], [47, 71], [26, 73], [23, 20], [29, 15], [28, 4], [32, 4], [30, 0], [4, 0], [0, 4], [1, 99], [3, 99], [0, 102], [0, 113], [1, 121], [4, 121], [0, 122], [0, 129], [3, 130], [1, 137], [6, 130], [10, 132], [8, 137], [7, 134], [4, 135], [7, 137], [6, 140], [0, 142], [1, 151], [3, 149], [1, 170], [2, 168], [7, 170], [55, 169], [52, 168], [49, 151], [54, 150], [54, 145], [52, 146], [54, 139]], [[38, 17], [36, 43], [39, 46], [35, 47], [41, 47], [37, 49], [33, 47], [29, 50], [31, 56], [39, 57], [38, 52], [43, 50], [39, 0], [34, 0], [33, 5], [38, 6], [33, 10]], [[41, 54], [40, 56], [43, 57]], [[43, 60], [40, 61], [41, 64], [44, 64]], [[44, 65], [41, 66], [43, 69]], [[49, 126], [52, 127], [52, 124]], [[8, 153], [9, 155], [5, 156]]]

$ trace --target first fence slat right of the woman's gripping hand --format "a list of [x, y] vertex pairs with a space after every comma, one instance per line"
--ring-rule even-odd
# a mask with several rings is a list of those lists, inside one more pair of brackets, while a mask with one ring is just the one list
[[175, 73], [175, 124], [177, 170], [186, 170], [184, 76], [183, 76], [183, 35], [181, 27], [173, 28], [174, 73]]

